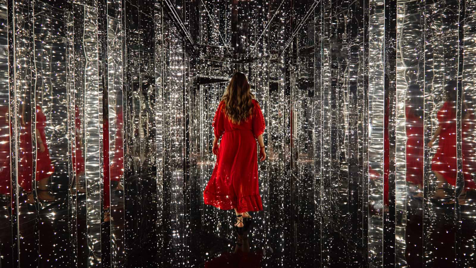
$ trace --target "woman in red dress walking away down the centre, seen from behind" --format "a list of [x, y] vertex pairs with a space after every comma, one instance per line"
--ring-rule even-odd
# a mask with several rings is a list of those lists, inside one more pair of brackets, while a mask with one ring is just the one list
[[203, 192], [204, 201], [220, 209], [235, 209], [235, 230], [242, 233], [251, 223], [248, 212], [263, 209], [255, 139], [259, 143], [260, 161], [266, 158], [263, 143], [265, 120], [243, 73], [237, 72], [231, 78], [212, 126], [215, 134], [213, 154], [218, 157]]

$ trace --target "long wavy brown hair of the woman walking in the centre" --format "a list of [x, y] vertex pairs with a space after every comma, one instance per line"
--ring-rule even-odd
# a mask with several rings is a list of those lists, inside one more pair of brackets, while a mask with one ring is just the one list
[[223, 112], [233, 124], [240, 124], [253, 113], [254, 98], [245, 74], [236, 72], [221, 97]]

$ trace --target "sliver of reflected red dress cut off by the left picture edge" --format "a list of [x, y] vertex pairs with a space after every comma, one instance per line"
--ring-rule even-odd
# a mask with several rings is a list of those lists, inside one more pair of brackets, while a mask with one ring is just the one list
[[0, 106], [0, 194], [10, 195], [10, 124], [8, 106]]

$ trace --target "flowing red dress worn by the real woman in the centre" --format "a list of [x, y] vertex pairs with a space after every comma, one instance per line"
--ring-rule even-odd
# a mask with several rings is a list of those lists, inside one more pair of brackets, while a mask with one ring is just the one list
[[[265, 119], [257, 101], [247, 121], [233, 124], [218, 105], [213, 119], [214, 134], [221, 137], [217, 163], [203, 192], [205, 204], [238, 212], [263, 209], [258, 186], [256, 138], [265, 130]], [[223, 135], [223, 136], [222, 136]]]

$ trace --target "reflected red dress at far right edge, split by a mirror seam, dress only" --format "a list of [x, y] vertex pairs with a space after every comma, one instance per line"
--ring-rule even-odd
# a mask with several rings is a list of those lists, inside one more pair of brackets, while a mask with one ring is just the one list
[[[472, 115], [470, 115], [470, 118]], [[453, 102], [445, 102], [437, 114], [438, 123], [441, 126], [441, 132], [438, 139], [438, 149], [432, 159], [431, 169], [441, 174], [448, 184], [456, 186], [457, 163], [456, 163], [456, 109]], [[467, 124], [467, 119], [462, 124], [462, 156], [463, 156], [463, 175], [465, 179], [465, 188], [474, 189], [475, 183], [468, 170], [470, 155], [468, 151], [467, 140], [471, 124]]]

